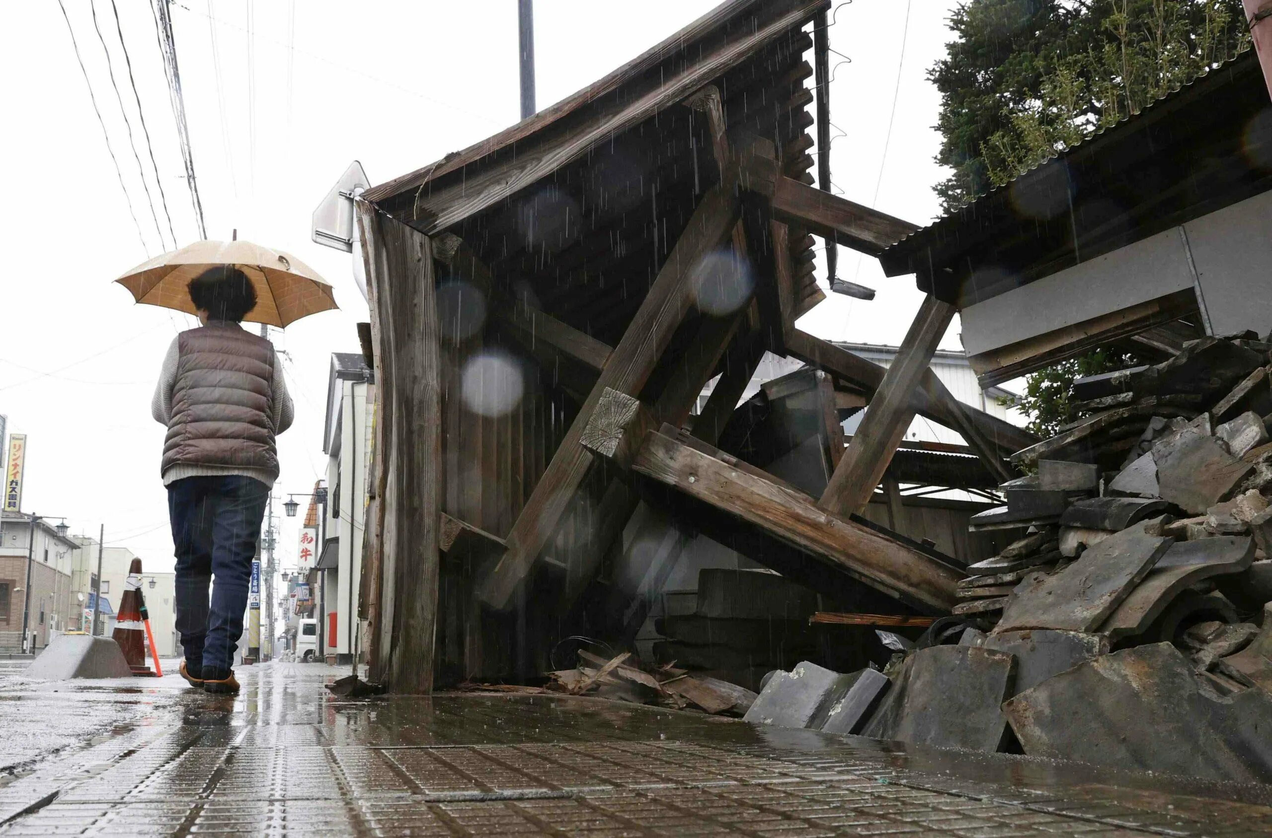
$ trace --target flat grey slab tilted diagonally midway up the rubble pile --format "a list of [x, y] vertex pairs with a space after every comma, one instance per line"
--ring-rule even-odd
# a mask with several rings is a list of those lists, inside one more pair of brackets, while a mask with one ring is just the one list
[[1173, 543], [1149, 535], [1151, 521], [1109, 535], [1068, 567], [1030, 574], [1007, 598], [995, 632], [1021, 628], [1095, 631]]

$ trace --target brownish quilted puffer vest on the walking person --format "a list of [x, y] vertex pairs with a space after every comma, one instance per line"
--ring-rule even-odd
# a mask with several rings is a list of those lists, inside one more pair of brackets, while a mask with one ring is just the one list
[[279, 476], [271, 397], [273, 345], [233, 324], [178, 337], [163, 467], [251, 468]]

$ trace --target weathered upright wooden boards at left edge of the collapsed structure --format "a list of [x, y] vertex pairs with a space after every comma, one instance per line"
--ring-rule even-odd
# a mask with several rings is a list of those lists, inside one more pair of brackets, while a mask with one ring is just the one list
[[[387, 675], [397, 693], [432, 689], [438, 613], [439, 476], [441, 474], [441, 398], [436, 281], [427, 237], [359, 203], [369, 234], [368, 272], [374, 289], [378, 357], [384, 379], [387, 426], [384, 554], [392, 574], [382, 605], [392, 615], [384, 628]], [[392, 362], [385, 364], [388, 359]], [[385, 582], [389, 580], [387, 579]], [[382, 633], [383, 637], [383, 633]]]

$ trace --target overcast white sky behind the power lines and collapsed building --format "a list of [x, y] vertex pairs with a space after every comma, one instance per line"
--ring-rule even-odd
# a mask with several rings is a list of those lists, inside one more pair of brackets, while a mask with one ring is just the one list
[[[64, 0], [132, 209], [93, 112], [56, 0], [0, 5], [0, 113], [8, 257], [0, 281], [0, 413], [28, 434], [24, 511], [65, 515], [73, 532], [131, 547], [150, 571], [172, 568], [163, 427], [150, 394], [164, 350], [188, 318], [132, 304], [112, 280], [197, 239], [148, 0], [116, 0], [123, 42], [158, 164], [151, 170], [111, 0], [98, 25], [132, 123], [141, 169], [94, 29], [89, 0]], [[912, 4], [912, 9], [909, 8]], [[538, 104], [614, 69], [716, 5], [716, 0], [538, 0]], [[834, 182], [862, 203], [923, 224], [939, 212], [931, 186], [939, 97], [926, 80], [950, 39], [954, 0], [842, 4], [831, 46]], [[908, 25], [906, 24], [908, 14]], [[366, 306], [349, 256], [309, 240], [309, 216], [360, 159], [383, 182], [462, 149], [518, 118], [516, 3], [384, 0], [176, 0], [178, 60], [195, 169], [210, 238], [239, 237], [299, 256], [336, 286], [342, 309], [300, 320], [275, 342], [286, 352], [298, 418], [280, 437], [276, 495], [308, 492], [323, 469], [329, 354], [357, 351]], [[902, 52], [904, 50], [904, 60]], [[832, 57], [832, 62], [842, 58]], [[895, 114], [893, 103], [895, 100]], [[885, 141], [887, 163], [884, 163]], [[878, 198], [875, 197], [878, 184]], [[909, 277], [842, 251], [840, 272], [878, 289], [874, 301], [837, 295], [801, 326], [822, 337], [898, 342], [918, 306]], [[958, 347], [958, 327], [944, 346]], [[281, 505], [276, 506], [281, 515]], [[284, 519], [281, 563], [295, 561]]]

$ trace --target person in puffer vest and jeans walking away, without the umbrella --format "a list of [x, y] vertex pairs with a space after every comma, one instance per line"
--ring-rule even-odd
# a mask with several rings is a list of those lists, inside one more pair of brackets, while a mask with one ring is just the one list
[[220, 264], [187, 291], [201, 326], [168, 347], [151, 401], [168, 429], [160, 473], [177, 557], [179, 671], [210, 693], [237, 693], [234, 651], [279, 477], [275, 437], [291, 425], [293, 404], [273, 345], [240, 326], [257, 305], [247, 275]]

